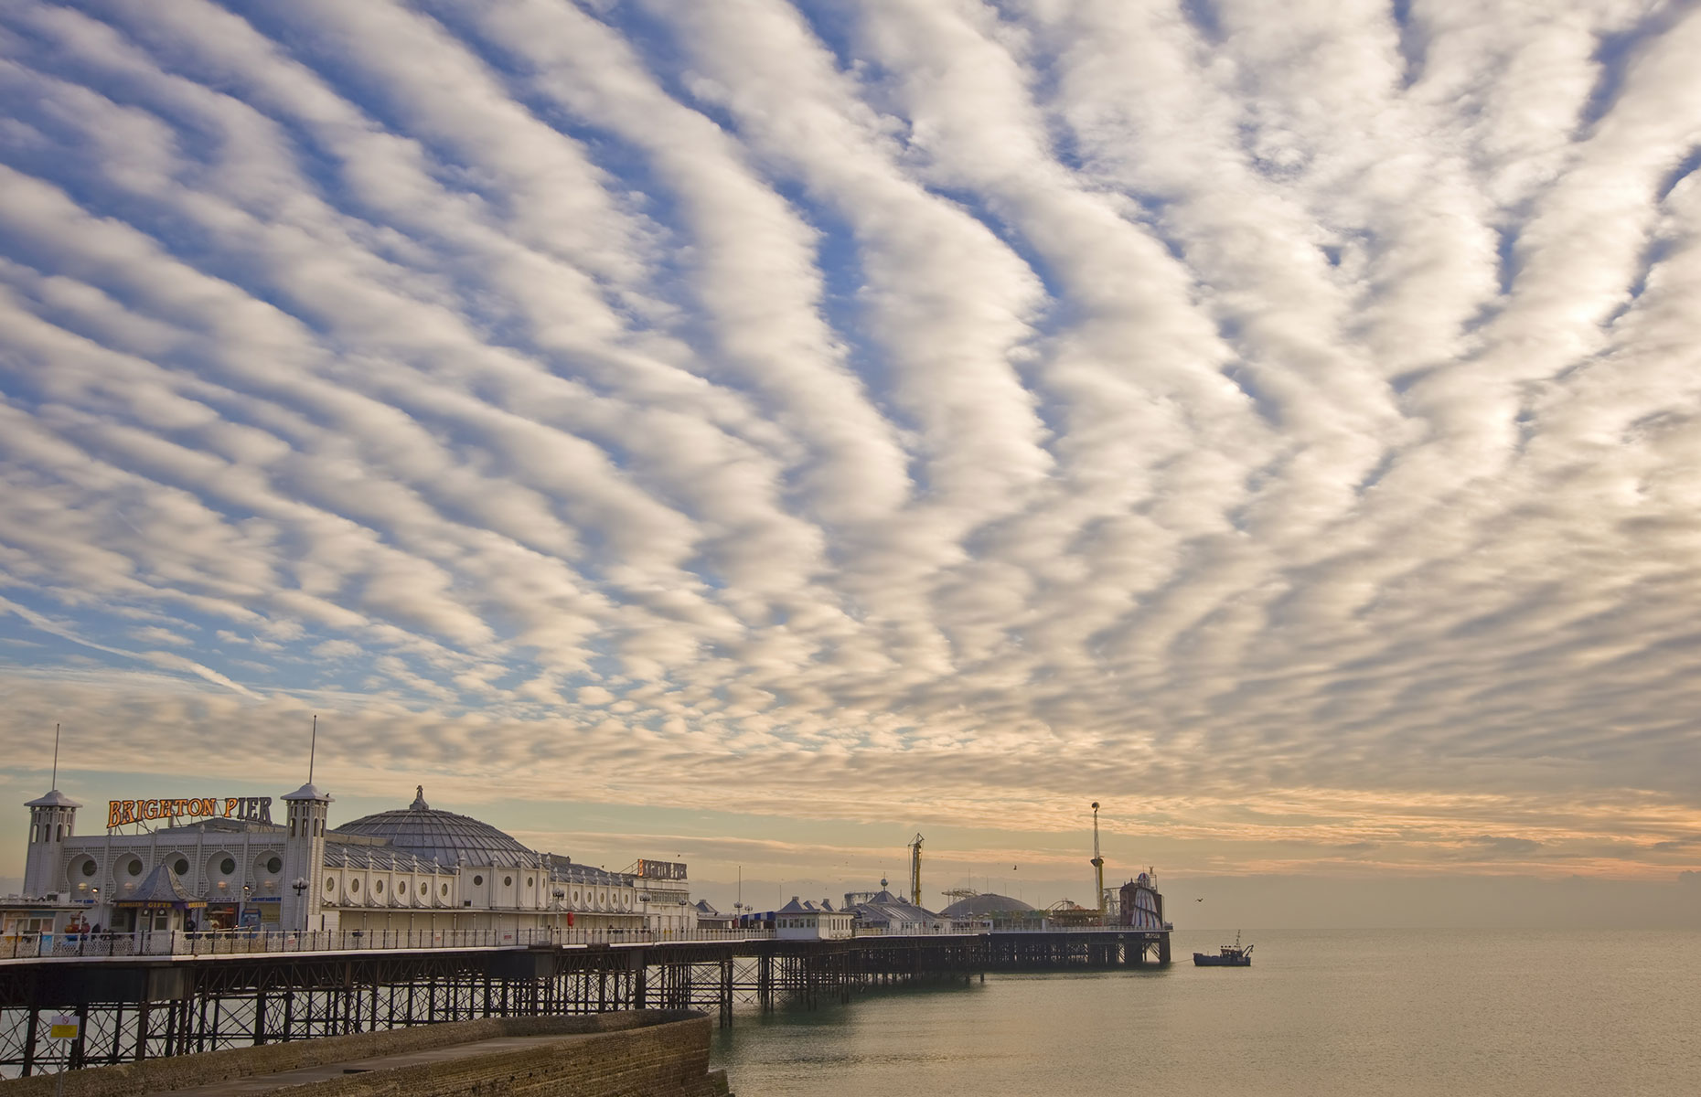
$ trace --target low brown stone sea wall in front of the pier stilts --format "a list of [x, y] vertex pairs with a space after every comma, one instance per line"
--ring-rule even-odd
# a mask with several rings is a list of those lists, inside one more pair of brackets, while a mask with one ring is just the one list
[[[138, 1097], [209, 1087], [304, 1066], [437, 1051], [503, 1036], [563, 1036], [495, 1054], [337, 1075], [287, 1088], [291, 1097], [725, 1097], [709, 1070], [709, 1019], [691, 1010], [589, 1017], [486, 1017], [386, 1032], [328, 1036], [70, 1071], [65, 1097]], [[5, 1097], [51, 1097], [53, 1075], [0, 1083]], [[282, 1092], [282, 1090], [281, 1090]]]

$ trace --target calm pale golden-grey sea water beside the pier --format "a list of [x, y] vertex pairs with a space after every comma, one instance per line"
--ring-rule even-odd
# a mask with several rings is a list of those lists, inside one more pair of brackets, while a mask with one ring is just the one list
[[[1230, 937], [1232, 939], [1232, 937]], [[738, 1097], [1701, 1094], [1701, 934], [1269, 930], [1254, 966], [988, 975], [740, 1014]]]

